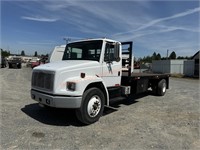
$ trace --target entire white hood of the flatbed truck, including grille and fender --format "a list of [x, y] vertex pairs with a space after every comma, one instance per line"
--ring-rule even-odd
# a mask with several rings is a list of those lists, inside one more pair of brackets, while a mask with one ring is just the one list
[[[34, 79], [34, 83], [37, 83], [36, 89], [38, 88], [41, 91], [49, 92], [49, 90], [52, 90], [50, 92], [54, 94], [80, 96], [84, 89], [82, 87], [87, 86], [91, 80], [100, 81], [101, 71], [101, 64], [97, 61], [65, 60], [35, 67], [33, 69], [34, 78], [32, 79]], [[81, 73], [85, 74], [84, 79], [81, 77]], [[67, 82], [76, 82], [76, 91], [66, 90]], [[49, 85], [52, 85], [53, 89], [50, 89]]]

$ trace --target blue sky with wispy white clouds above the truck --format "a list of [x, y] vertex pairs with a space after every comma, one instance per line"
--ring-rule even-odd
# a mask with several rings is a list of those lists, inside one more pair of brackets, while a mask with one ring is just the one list
[[199, 0], [1, 0], [0, 48], [27, 55], [85, 38], [133, 41], [136, 58], [200, 50]]

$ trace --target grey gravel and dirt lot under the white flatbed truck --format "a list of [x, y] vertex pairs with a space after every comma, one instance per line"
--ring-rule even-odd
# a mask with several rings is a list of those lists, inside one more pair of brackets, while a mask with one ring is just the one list
[[119, 100], [82, 126], [73, 110], [40, 108], [31, 69], [0, 69], [0, 149], [200, 149], [199, 80], [170, 79], [164, 97]]

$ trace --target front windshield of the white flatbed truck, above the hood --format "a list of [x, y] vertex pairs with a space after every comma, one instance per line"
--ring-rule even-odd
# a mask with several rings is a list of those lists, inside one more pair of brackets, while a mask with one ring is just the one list
[[99, 61], [102, 40], [83, 41], [67, 44], [62, 60]]

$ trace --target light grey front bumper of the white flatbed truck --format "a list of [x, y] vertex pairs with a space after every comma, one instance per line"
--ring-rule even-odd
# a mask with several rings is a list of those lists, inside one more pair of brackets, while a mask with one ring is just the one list
[[31, 90], [31, 98], [40, 104], [55, 108], [80, 108], [82, 96], [69, 97], [59, 95], [49, 95], [35, 90]]

